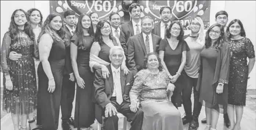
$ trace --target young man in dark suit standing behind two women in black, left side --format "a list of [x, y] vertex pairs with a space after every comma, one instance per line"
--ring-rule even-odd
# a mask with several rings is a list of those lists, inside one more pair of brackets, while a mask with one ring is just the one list
[[[64, 26], [66, 33], [71, 38], [74, 34], [74, 24], [76, 21], [76, 13], [72, 10], [64, 12]], [[73, 118], [71, 118], [71, 112], [73, 108], [73, 101], [75, 98], [75, 76], [73, 73], [70, 57], [70, 46], [66, 46], [66, 57], [65, 57], [65, 70], [62, 81], [61, 90], [61, 114], [62, 114], [62, 129], [71, 130], [69, 125], [73, 125]]]

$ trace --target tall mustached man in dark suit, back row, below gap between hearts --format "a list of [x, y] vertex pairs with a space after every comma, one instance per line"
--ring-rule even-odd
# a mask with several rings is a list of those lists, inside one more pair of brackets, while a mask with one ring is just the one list
[[125, 56], [127, 57], [127, 41], [128, 39], [136, 34], [141, 33], [141, 15], [142, 9], [138, 3], [133, 3], [129, 7], [129, 14], [131, 16], [131, 21], [124, 23], [121, 26], [120, 33], [120, 43], [125, 51]]

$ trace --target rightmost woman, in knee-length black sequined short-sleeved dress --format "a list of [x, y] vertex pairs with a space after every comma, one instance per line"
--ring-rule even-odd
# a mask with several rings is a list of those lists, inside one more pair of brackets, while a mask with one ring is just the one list
[[244, 26], [239, 19], [234, 19], [228, 24], [226, 33], [231, 48], [227, 109], [229, 129], [239, 130], [246, 102], [248, 76], [255, 64], [255, 51], [250, 39], [245, 37]]

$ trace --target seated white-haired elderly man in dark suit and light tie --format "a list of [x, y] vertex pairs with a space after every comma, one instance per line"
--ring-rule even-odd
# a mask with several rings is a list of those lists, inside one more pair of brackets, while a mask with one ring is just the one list
[[109, 77], [104, 79], [101, 69], [95, 71], [95, 116], [99, 123], [102, 123], [102, 116], [105, 117], [106, 130], [118, 130], [118, 112], [132, 121], [130, 130], [141, 130], [143, 123], [144, 114], [138, 107], [138, 100], [132, 101], [132, 106], [137, 106], [137, 111], [130, 109], [129, 91], [134, 79], [132, 72], [125, 75], [120, 69], [124, 56], [122, 47], [112, 47], [109, 51], [111, 64], [107, 66]]

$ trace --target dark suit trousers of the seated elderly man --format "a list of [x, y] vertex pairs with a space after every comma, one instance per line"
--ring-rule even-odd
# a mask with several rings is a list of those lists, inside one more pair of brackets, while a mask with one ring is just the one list
[[[127, 117], [128, 121], [132, 121], [131, 122], [131, 128], [130, 130], [141, 130], [142, 124], [143, 124], [143, 117], [144, 117], [144, 112], [141, 110], [141, 108], [139, 108], [139, 110], [134, 113], [130, 110], [130, 102], [127, 101], [123, 101], [121, 104], [118, 104], [116, 102], [116, 97], [112, 97], [111, 99], [111, 103], [113, 104], [113, 106], [115, 106], [116, 110], [123, 114], [124, 116]], [[105, 108], [104, 111], [102, 111], [102, 115], [105, 117]], [[106, 130], [118, 130], [118, 116], [117, 115], [113, 115], [110, 117], [108, 115], [107, 118], [104, 119], [105, 121], [105, 129]], [[124, 126], [126, 127], [126, 126]]]

